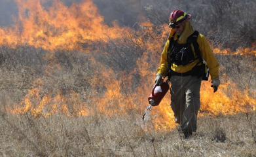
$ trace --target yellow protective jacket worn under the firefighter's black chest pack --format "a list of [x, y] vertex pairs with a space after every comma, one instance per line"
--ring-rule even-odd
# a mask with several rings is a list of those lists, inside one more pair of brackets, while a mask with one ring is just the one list
[[[194, 32], [189, 20], [187, 20], [187, 22], [185, 22], [185, 24], [183, 24], [183, 26], [184, 26], [184, 29], [183, 29], [183, 33], [181, 34], [181, 37], [179, 37], [179, 39], [178, 39], [177, 33], [175, 33], [175, 30], [172, 29], [169, 39], [164, 46], [164, 50], [162, 51], [162, 55], [161, 55], [160, 67], [158, 67], [156, 69], [158, 71], [158, 73], [160, 73], [162, 75], [166, 75], [166, 73], [168, 71], [168, 63], [167, 63], [167, 54], [168, 53], [167, 53], [167, 51], [168, 51], [168, 46], [169, 46], [169, 42], [170, 42], [172, 35], [174, 35], [174, 33], [175, 33], [174, 41], [178, 40], [177, 41], [178, 44], [185, 44], [187, 42], [187, 37], [189, 37]], [[213, 56], [211, 47], [210, 47], [208, 41], [206, 40], [206, 37], [204, 37], [204, 35], [202, 35], [202, 34], [199, 34], [198, 38], [197, 38], [197, 43], [199, 44], [199, 50], [202, 55], [202, 58], [206, 61], [207, 65], [208, 65], [211, 79], [215, 79], [216, 77], [219, 77], [219, 63], [216, 60], [215, 56]], [[191, 44], [191, 46], [192, 46], [192, 44]], [[193, 46], [192, 46], [192, 50], [194, 50]], [[195, 52], [194, 52], [194, 56], [196, 57]], [[200, 62], [199, 59], [197, 59], [187, 65], [175, 65], [174, 63], [172, 63], [171, 68], [176, 73], [186, 73], [188, 71], [191, 71], [191, 69], [194, 66], [201, 65], [198, 62]]]

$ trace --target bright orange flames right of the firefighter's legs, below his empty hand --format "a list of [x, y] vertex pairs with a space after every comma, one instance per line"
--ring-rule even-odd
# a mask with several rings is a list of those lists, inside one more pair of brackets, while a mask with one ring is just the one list
[[[236, 84], [227, 82], [219, 86], [219, 90], [212, 94], [210, 82], [204, 82], [200, 91], [201, 112], [208, 112], [212, 115], [234, 115], [238, 112], [255, 111], [256, 99], [255, 93], [249, 93], [246, 89], [241, 92]], [[228, 96], [230, 94], [230, 96]]]

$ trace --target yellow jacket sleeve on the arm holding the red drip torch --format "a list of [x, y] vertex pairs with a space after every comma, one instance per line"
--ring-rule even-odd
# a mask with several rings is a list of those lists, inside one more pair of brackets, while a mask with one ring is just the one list
[[162, 75], [166, 75], [167, 69], [168, 69], [168, 62], [167, 62], [168, 46], [169, 46], [169, 40], [166, 42], [166, 45], [164, 46], [164, 50], [162, 51], [160, 67], [156, 69], [158, 73]]

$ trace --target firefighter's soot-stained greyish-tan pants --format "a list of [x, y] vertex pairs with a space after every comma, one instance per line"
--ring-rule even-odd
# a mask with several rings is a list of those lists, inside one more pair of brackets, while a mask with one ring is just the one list
[[171, 107], [175, 122], [181, 124], [183, 130], [196, 131], [197, 113], [200, 109], [200, 87], [202, 77], [172, 76]]

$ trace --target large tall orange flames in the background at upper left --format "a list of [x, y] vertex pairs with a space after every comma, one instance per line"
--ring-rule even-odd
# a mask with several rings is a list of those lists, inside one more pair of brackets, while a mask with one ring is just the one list
[[[16, 0], [18, 20], [14, 26], [0, 29], [0, 45], [16, 48], [34, 46], [45, 50], [81, 49], [82, 43], [107, 42], [116, 39], [122, 28], [103, 24], [103, 16], [90, 0], [66, 7], [61, 1], [52, 1], [46, 10], [46, 0]], [[117, 27], [118, 29], [116, 29]]]

